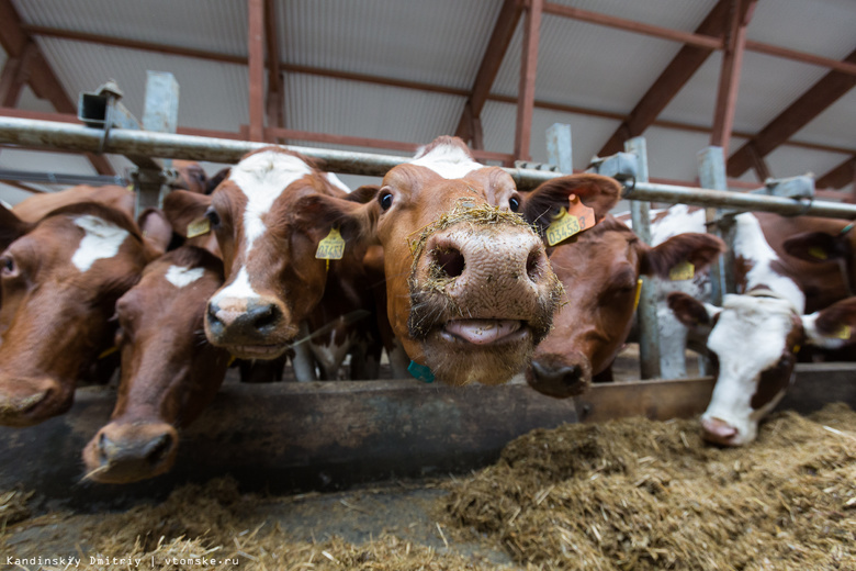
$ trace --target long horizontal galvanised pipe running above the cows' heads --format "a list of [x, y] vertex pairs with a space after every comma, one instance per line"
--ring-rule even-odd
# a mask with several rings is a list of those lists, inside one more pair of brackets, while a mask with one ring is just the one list
[[[36, 121], [0, 116], [0, 144], [22, 145], [32, 148], [67, 149], [94, 153], [98, 150], [102, 132], [95, 128], [54, 121]], [[105, 153], [136, 155], [213, 163], [237, 163], [245, 154], [268, 146], [268, 143], [250, 143], [227, 138], [212, 138], [147, 131], [113, 130], [104, 144]], [[343, 175], [367, 175], [382, 177], [408, 157], [376, 155], [352, 150], [320, 149], [313, 147], [285, 146], [318, 161], [322, 169]], [[560, 172], [533, 169], [504, 169], [514, 178], [517, 188], [529, 190], [555, 177]], [[744, 194], [719, 190], [699, 189], [672, 184], [638, 182], [624, 193], [629, 200], [685, 203], [699, 206], [722, 206], [744, 211], [775, 212], [785, 215], [809, 214], [812, 216], [856, 219], [856, 204], [796, 200]]]

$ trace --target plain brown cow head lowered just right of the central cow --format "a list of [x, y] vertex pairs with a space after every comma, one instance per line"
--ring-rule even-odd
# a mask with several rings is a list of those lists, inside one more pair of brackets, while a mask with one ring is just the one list
[[612, 363], [627, 339], [640, 276], [668, 279], [673, 268], [687, 261], [703, 269], [724, 249], [716, 236], [695, 233], [652, 248], [611, 216], [575, 244], [555, 248], [550, 262], [565, 293], [553, 331], [527, 369], [529, 384], [556, 398], [582, 393], [593, 376]]

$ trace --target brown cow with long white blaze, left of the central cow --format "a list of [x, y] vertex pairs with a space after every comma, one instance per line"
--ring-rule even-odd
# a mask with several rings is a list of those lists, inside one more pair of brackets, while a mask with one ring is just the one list
[[[246, 360], [271, 360], [294, 351], [299, 380], [337, 378], [351, 354], [352, 378], [376, 378], [380, 335], [372, 283], [362, 265], [367, 246], [347, 231], [340, 259], [317, 259], [330, 225], [294, 204], [306, 195], [368, 200], [374, 189], [347, 193], [335, 177], [279, 147], [244, 157], [210, 195], [176, 191], [165, 200], [173, 228], [193, 224], [216, 240], [226, 282], [209, 302], [205, 331], [212, 344]], [[339, 243], [341, 245], [341, 243]], [[209, 246], [211, 247], [211, 246]], [[368, 365], [368, 367], [365, 367]]]

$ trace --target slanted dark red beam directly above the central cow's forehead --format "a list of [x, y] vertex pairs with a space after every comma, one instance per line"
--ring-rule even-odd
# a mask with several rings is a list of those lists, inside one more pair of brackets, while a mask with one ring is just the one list
[[472, 141], [474, 136], [472, 122], [482, 114], [482, 109], [484, 109], [484, 104], [491, 94], [491, 88], [494, 86], [496, 75], [499, 72], [499, 67], [503, 65], [503, 59], [505, 59], [505, 54], [508, 52], [508, 46], [511, 43], [511, 37], [522, 13], [522, 5], [517, 0], [505, 0], [503, 2], [503, 8], [499, 10], [491, 40], [487, 42], [484, 57], [482, 57], [482, 64], [478, 66], [478, 71], [475, 75], [473, 89], [468, 93], [469, 97], [464, 104], [464, 111], [458, 121], [458, 127], [454, 130], [455, 135], [459, 137]]

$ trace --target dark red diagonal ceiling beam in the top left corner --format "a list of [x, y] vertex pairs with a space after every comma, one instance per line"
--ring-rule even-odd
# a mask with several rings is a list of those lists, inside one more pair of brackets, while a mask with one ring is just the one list
[[[50, 69], [41, 48], [30, 34], [23, 31], [21, 16], [11, 0], [0, 0], [0, 46], [10, 58], [26, 59], [27, 83], [37, 97], [50, 101], [54, 109], [60, 113], [77, 113], [77, 105]], [[27, 54], [29, 49], [32, 52]], [[99, 175], [115, 175], [106, 157], [91, 153], [86, 155]]]

